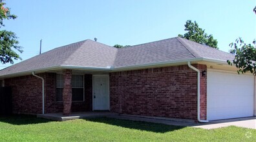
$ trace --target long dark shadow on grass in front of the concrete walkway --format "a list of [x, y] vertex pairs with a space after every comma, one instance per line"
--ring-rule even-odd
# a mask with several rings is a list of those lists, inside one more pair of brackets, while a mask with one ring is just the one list
[[173, 126], [173, 125], [164, 125], [160, 123], [131, 121], [131, 120], [108, 118], [108, 117], [100, 117], [100, 118], [93, 118], [93, 119], [91, 118], [91, 119], [85, 119], [85, 120], [98, 122], [98, 123], [105, 123], [105, 124], [114, 125], [117, 127], [131, 128], [136, 130], [145, 130], [145, 131], [156, 132], [156, 133], [171, 132], [174, 130], [185, 128], [185, 127], [179, 127], [179, 126]]

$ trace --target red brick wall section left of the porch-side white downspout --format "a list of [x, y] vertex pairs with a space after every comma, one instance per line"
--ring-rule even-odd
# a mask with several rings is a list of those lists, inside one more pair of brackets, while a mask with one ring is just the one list
[[12, 86], [12, 109], [14, 113], [42, 113], [41, 79], [32, 75], [14, 77], [5, 79], [5, 86]]

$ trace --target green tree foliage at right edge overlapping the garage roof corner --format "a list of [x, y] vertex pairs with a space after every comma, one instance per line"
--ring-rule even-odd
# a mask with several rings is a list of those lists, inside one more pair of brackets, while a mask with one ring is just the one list
[[[256, 14], [256, 6], [253, 8], [253, 12]], [[239, 70], [237, 72], [244, 74], [251, 72], [256, 76], [256, 40], [254, 39], [252, 44], [246, 44], [241, 37], [235, 40], [234, 43], [230, 43], [229, 46], [231, 54], [235, 54], [233, 61], [227, 61], [229, 65], [235, 65]]]

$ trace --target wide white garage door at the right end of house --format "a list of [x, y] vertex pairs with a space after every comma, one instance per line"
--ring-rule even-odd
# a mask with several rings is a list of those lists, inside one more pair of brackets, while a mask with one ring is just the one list
[[208, 120], [253, 116], [253, 76], [208, 70], [207, 78]]

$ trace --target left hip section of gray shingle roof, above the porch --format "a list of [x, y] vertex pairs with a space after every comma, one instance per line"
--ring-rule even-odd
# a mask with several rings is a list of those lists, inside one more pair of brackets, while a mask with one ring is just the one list
[[55, 66], [107, 67], [114, 63], [117, 48], [91, 40], [54, 48], [0, 70], [0, 76]]

